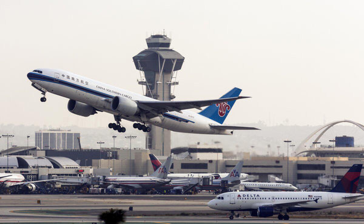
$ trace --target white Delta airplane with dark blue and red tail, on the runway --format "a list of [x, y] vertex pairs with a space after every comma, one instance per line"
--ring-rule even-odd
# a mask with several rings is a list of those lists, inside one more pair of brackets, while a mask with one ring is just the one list
[[219, 194], [207, 205], [213, 209], [231, 211], [230, 219], [234, 219], [235, 211], [250, 211], [251, 216], [270, 217], [278, 214], [279, 220], [288, 220], [288, 212], [332, 208], [364, 199], [363, 194], [356, 193], [362, 166], [354, 164], [329, 192], [229, 192]]

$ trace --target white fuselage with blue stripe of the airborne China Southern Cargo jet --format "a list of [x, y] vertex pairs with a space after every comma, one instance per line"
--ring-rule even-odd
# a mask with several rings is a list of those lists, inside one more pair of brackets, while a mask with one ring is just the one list
[[[49, 92], [66, 97], [76, 101], [74, 103], [81, 102], [93, 107], [96, 111], [104, 111], [128, 121], [147, 123], [183, 133], [224, 135], [231, 135], [233, 133], [232, 130], [212, 128], [211, 124], [217, 126], [221, 124], [190, 110], [161, 113], [153, 118], [145, 118], [144, 121], [141, 116], [120, 114], [117, 110], [111, 109], [111, 100], [116, 96], [121, 97], [125, 101], [126, 99], [130, 100], [127, 103], [157, 100], [68, 71], [41, 68], [29, 72], [27, 76], [33, 83], [32, 85], [44, 94]], [[70, 102], [68, 106], [70, 106]]]

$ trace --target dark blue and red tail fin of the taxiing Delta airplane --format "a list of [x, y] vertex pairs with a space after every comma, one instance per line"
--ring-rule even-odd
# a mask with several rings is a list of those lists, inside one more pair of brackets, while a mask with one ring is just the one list
[[354, 164], [330, 192], [356, 193], [363, 164]]

